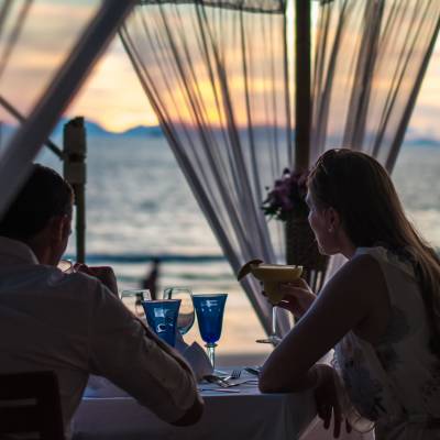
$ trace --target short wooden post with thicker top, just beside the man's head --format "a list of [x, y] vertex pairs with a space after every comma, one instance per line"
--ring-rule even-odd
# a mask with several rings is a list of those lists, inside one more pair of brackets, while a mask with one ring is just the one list
[[75, 191], [76, 205], [76, 261], [86, 260], [86, 129], [78, 117], [64, 125], [64, 177]]

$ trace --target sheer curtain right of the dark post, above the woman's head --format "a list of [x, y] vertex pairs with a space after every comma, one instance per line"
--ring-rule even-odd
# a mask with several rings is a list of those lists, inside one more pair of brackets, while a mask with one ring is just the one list
[[[438, 0], [321, 2], [310, 163], [331, 147], [393, 170], [440, 26]], [[344, 258], [330, 260], [331, 277]]]

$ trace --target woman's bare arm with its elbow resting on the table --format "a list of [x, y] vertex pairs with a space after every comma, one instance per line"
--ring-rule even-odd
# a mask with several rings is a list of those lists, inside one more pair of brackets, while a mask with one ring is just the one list
[[317, 385], [312, 365], [350, 330], [371, 317], [386, 297], [378, 263], [370, 255], [348, 262], [265, 362], [263, 393], [298, 392]]

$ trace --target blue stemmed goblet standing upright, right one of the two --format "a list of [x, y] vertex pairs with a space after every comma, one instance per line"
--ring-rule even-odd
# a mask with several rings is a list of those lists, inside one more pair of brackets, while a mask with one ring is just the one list
[[215, 349], [221, 336], [224, 305], [228, 294], [193, 295], [194, 308], [201, 339], [206, 342], [212, 367], [216, 364]]

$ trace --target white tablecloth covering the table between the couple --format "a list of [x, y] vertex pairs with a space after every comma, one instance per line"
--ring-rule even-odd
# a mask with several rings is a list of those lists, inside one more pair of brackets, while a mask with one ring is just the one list
[[[242, 380], [254, 376], [242, 374]], [[204, 389], [216, 388], [200, 384]], [[173, 427], [106, 380], [92, 377], [73, 424], [74, 440], [276, 440], [297, 439], [316, 415], [312, 395], [261, 394], [255, 384], [238, 394], [204, 391], [201, 420]]]

